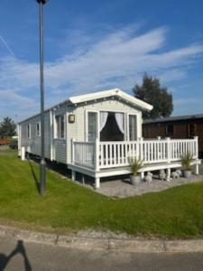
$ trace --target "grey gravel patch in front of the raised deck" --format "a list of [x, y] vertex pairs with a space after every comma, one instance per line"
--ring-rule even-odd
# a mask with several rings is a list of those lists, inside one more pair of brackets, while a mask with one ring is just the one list
[[170, 182], [161, 181], [154, 176], [152, 182], [141, 182], [135, 186], [126, 178], [125, 180], [101, 182], [101, 187], [97, 189], [97, 192], [110, 197], [126, 198], [148, 192], [160, 192], [173, 186], [200, 181], [203, 181], [203, 175], [193, 174], [190, 179], [180, 177], [180, 179], [171, 179]]

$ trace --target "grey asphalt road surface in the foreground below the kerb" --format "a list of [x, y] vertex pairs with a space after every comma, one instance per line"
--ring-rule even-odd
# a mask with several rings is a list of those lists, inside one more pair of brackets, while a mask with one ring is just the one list
[[141, 254], [60, 248], [0, 237], [0, 270], [203, 270], [203, 253]]

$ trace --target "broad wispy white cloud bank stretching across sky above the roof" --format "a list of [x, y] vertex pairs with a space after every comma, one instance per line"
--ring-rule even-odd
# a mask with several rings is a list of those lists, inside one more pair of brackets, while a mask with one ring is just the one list
[[[202, 55], [203, 45], [164, 51], [166, 38], [165, 28], [138, 34], [134, 26], [102, 35], [101, 40], [93, 38], [90, 42], [87, 37], [84, 48], [76, 46], [77, 51], [45, 63], [47, 106], [78, 93], [115, 87], [132, 89], [144, 71], [160, 76], [163, 82], [184, 79]], [[29, 105], [34, 110], [40, 97], [39, 64], [11, 57], [0, 59], [0, 74], [0, 95], [5, 95], [7, 104], [23, 115]], [[7, 98], [4, 89], [12, 89], [7, 91]]]

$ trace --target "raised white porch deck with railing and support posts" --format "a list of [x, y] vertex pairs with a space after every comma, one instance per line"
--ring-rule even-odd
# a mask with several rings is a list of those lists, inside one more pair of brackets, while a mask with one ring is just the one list
[[95, 187], [99, 188], [100, 178], [131, 173], [130, 157], [143, 160], [140, 170], [142, 178], [144, 172], [167, 170], [170, 179], [171, 168], [181, 167], [181, 156], [190, 153], [193, 156], [192, 164], [198, 174], [198, 137], [193, 139], [139, 139], [137, 141], [116, 142], [78, 142], [72, 139], [72, 159], [68, 165], [75, 173], [87, 174], [95, 178]]

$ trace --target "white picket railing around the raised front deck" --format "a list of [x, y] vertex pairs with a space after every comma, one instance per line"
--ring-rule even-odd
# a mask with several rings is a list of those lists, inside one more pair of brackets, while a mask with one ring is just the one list
[[180, 161], [190, 153], [198, 159], [198, 137], [194, 139], [153, 139], [117, 142], [72, 143], [72, 163], [96, 170], [128, 166], [130, 157], [143, 160], [144, 164]]

